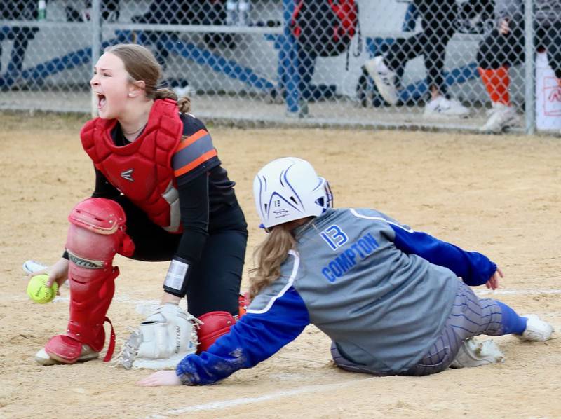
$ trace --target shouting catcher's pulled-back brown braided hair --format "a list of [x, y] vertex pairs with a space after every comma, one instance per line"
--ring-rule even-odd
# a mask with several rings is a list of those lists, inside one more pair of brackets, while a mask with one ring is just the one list
[[189, 97], [177, 99], [173, 90], [158, 88], [158, 81], [162, 77], [162, 67], [148, 48], [137, 43], [119, 43], [105, 48], [105, 52], [121, 58], [128, 72], [130, 83], [144, 81], [146, 97], [155, 100], [173, 99], [177, 101], [177, 107], [182, 114], [191, 110], [191, 99]]

